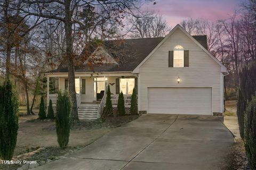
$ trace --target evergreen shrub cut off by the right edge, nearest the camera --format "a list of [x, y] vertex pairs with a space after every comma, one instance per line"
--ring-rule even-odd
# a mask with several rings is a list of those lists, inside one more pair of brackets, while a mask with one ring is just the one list
[[246, 107], [244, 119], [244, 143], [252, 169], [256, 169], [256, 98]]

